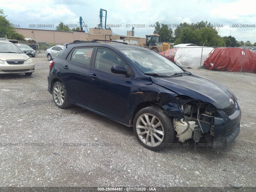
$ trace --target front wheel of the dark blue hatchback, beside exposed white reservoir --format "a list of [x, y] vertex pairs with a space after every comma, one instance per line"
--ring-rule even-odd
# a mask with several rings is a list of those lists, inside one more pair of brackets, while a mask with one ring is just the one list
[[143, 108], [135, 115], [133, 130], [140, 144], [153, 151], [166, 148], [175, 138], [173, 122], [156, 106]]

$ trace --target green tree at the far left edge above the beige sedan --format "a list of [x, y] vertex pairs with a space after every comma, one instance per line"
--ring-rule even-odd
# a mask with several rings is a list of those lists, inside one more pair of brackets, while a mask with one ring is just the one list
[[0, 37], [25, 41], [24, 36], [14, 30], [12, 23], [6, 17], [7, 15], [4, 15], [4, 10], [0, 9]]

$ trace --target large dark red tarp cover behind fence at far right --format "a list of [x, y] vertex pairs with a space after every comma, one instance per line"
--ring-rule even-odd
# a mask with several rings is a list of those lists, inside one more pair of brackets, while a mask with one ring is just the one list
[[209, 70], [256, 73], [256, 53], [243, 48], [216, 48], [210, 52], [204, 65]]

